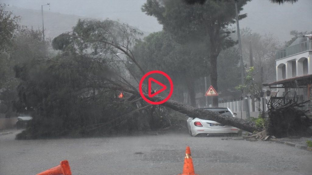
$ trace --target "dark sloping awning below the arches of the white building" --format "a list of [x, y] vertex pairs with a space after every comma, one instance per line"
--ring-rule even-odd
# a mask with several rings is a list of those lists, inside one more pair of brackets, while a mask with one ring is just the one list
[[312, 83], [312, 74], [302, 75], [293, 78], [287, 78], [283, 80], [278, 80], [273, 83], [263, 83], [263, 86], [272, 86], [283, 84], [283, 87], [298, 87], [298, 86], [306, 86]]

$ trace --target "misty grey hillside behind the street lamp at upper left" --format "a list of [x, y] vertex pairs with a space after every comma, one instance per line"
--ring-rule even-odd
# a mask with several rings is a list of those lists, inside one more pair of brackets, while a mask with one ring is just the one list
[[[6, 7], [7, 11], [12, 11], [15, 15], [21, 16], [21, 25], [42, 29], [41, 10], [31, 10], [18, 7]], [[54, 38], [63, 32], [71, 31], [76, 25], [78, 19], [86, 19], [86, 17], [77, 15], [67, 15], [54, 13], [49, 11], [43, 12], [45, 37]], [[143, 31], [144, 32], [144, 31]], [[149, 32], [144, 32], [144, 36]]]

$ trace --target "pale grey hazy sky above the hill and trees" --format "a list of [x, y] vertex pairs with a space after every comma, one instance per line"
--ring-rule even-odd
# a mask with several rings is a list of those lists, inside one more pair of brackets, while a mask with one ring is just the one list
[[[160, 31], [155, 17], [145, 15], [141, 11], [146, 0], [1, 0], [1, 3], [10, 4], [19, 8], [73, 14], [92, 18], [119, 19], [138, 27], [142, 31]], [[272, 4], [268, 0], [252, 0], [244, 6], [248, 17], [240, 21], [242, 27], [250, 27], [260, 34], [272, 33], [281, 41], [290, 39], [290, 30], [312, 31], [312, 0], [299, 0], [294, 4]]]

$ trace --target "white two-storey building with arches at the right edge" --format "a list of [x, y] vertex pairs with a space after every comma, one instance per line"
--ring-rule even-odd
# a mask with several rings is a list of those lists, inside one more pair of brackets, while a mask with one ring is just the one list
[[276, 81], [263, 85], [276, 89], [278, 97], [312, 99], [312, 35], [297, 38], [276, 52]]

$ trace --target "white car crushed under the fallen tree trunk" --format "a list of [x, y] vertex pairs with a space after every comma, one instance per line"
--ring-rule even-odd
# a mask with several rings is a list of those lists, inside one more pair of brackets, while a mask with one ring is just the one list
[[[236, 113], [233, 113], [227, 107], [207, 107], [202, 108], [219, 114], [235, 117]], [[207, 136], [218, 134], [238, 133], [239, 129], [233, 126], [222, 125], [216, 121], [202, 120], [200, 118], [189, 117], [187, 120], [188, 132], [191, 136]]]

